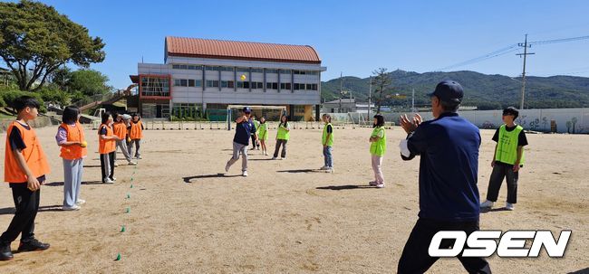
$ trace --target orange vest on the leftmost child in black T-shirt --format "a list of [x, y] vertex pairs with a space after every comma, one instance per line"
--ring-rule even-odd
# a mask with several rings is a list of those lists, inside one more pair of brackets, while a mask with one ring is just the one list
[[37, 134], [33, 128], [26, 129], [24, 126], [14, 121], [8, 126], [6, 130], [6, 148], [5, 148], [5, 182], [7, 183], [26, 183], [27, 177], [23, 170], [18, 166], [16, 157], [10, 147], [10, 133], [16, 127], [21, 132], [24, 145], [26, 146], [21, 153], [24, 156], [24, 161], [33, 173], [35, 178], [50, 173], [49, 163], [47, 163], [47, 156], [43, 153], [43, 148], [39, 143]]

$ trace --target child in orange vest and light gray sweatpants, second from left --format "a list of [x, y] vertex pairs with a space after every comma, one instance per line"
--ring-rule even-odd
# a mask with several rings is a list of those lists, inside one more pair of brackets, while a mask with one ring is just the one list
[[80, 109], [68, 106], [63, 109], [62, 125], [57, 128], [55, 140], [62, 146], [63, 158], [63, 207], [64, 211], [77, 211], [80, 204], [82, 186], [83, 158], [86, 157], [86, 138], [79, 122]]

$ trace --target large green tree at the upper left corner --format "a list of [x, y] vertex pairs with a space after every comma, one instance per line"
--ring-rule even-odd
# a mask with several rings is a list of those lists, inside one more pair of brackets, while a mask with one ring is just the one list
[[40, 90], [66, 63], [88, 67], [103, 61], [103, 47], [100, 37], [90, 36], [52, 6], [27, 0], [0, 3], [0, 57], [20, 90]]

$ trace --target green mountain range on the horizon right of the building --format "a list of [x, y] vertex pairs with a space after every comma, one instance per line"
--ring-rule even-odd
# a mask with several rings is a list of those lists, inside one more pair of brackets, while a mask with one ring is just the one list
[[[462, 105], [478, 109], [519, 108], [521, 78], [505, 75], [488, 75], [476, 71], [425, 72], [391, 71], [391, 90], [382, 105], [410, 107], [411, 90], [415, 90], [415, 106], [430, 104], [427, 93], [435, 89], [441, 80], [456, 80], [464, 88]], [[322, 100], [339, 99], [340, 82], [348, 91], [344, 98], [352, 96], [368, 101], [370, 78], [344, 76], [342, 79], [322, 82]], [[374, 87], [372, 87], [374, 92]], [[387, 93], [385, 93], [387, 94]], [[372, 93], [372, 96], [374, 94]], [[374, 99], [374, 97], [372, 97]], [[526, 77], [526, 109], [589, 108], [589, 78], [575, 76]]]

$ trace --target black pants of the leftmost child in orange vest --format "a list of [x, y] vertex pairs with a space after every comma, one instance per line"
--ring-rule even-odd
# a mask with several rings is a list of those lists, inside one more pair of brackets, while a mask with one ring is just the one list
[[[37, 180], [42, 183], [44, 176]], [[8, 229], [0, 236], [0, 244], [10, 244], [21, 233], [21, 241], [26, 242], [34, 239], [34, 218], [39, 211], [39, 200], [41, 200], [41, 189], [35, 192], [30, 191], [26, 187], [26, 183], [11, 183], [10, 188], [13, 190], [16, 212]]]

